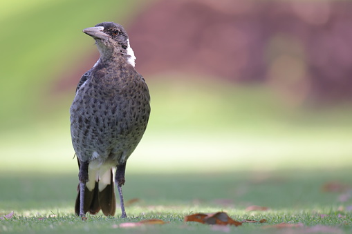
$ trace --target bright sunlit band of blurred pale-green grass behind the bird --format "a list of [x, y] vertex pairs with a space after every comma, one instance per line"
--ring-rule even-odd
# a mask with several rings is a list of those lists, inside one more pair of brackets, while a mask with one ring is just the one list
[[[152, 112], [129, 159], [133, 173], [352, 166], [350, 108], [303, 113], [275, 102], [264, 87], [172, 80], [149, 83]], [[7, 155], [1, 158], [1, 171], [77, 170], [70, 103], [28, 121], [26, 128], [1, 132], [0, 155]]]

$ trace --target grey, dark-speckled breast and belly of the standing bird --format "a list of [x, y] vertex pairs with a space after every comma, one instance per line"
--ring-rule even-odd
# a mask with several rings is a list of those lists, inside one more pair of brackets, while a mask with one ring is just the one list
[[100, 157], [125, 162], [147, 128], [149, 91], [133, 79], [89, 79], [77, 90], [71, 106], [73, 148], [80, 161]]

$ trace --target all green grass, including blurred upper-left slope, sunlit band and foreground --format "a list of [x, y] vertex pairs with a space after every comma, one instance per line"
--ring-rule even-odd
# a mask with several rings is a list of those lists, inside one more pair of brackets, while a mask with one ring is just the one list
[[[52, 94], [55, 82], [96, 51], [83, 28], [106, 20], [128, 27], [149, 3], [44, 2], [2, 3], [8, 37], [0, 41], [8, 46], [0, 58], [0, 217], [15, 215], [0, 220], [0, 233], [219, 233], [183, 222], [185, 215], [216, 211], [268, 220], [222, 231], [285, 233], [261, 226], [301, 222], [320, 233], [324, 226], [351, 233], [351, 191], [322, 192], [326, 182], [352, 186], [351, 106], [297, 108], [268, 87], [184, 74], [145, 77], [152, 111], [127, 164], [125, 199], [140, 199], [127, 206], [129, 218], [75, 217], [77, 162], [68, 121], [75, 87]], [[251, 205], [270, 210], [246, 211]], [[115, 228], [151, 218], [169, 223]]]

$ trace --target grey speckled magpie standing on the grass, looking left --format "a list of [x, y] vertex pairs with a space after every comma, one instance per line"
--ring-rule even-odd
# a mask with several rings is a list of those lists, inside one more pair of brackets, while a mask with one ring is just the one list
[[114, 22], [98, 23], [83, 32], [93, 37], [100, 57], [82, 75], [70, 108], [71, 139], [78, 162], [75, 213], [100, 210], [114, 216], [115, 186], [121, 217], [127, 217], [122, 185], [127, 159], [142, 139], [150, 115], [145, 79], [135, 69], [126, 30]]

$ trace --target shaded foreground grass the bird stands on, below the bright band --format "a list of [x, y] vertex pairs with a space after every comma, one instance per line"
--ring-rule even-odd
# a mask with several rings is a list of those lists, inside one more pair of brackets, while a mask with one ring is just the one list
[[[335, 226], [352, 231], [352, 199], [339, 202], [339, 193], [324, 193], [331, 180], [349, 183], [349, 170], [288, 170], [271, 172], [135, 174], [127, 173], [125, 200], [127, 220], [89, 215], [86, 222], [73, 215], [77, 175], [1, 174], [0, 213], [15, 216], [0, 221], [4, 233], [214, 233], [211, 226], [184, 223], [191, 213], [227, 212], [234, 220], [261, 220], [266, 224], [243, 224], [230, 230], [239, 233], [272, 233], [261, 226], [281, 222], [306, 226]], [[15, 186], [14, 186], [15, 185]], [[349, 192], [344, 192], [349, 193]], [[246, 211], [250, 205], [268, 206], [269, 211]], [[118, 210], [119, 211], [119, 210]], [[322, 217], [321, 215], [327, 215]], [[116, 228], [122, 222], [158, 218], [162, 226]]]

